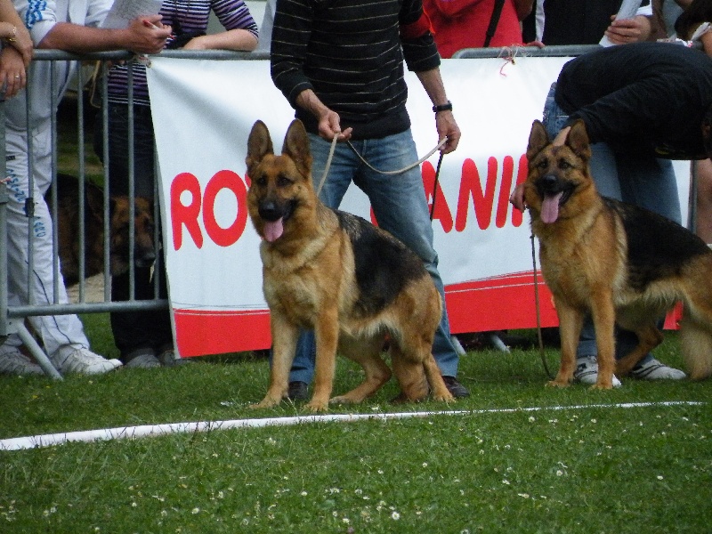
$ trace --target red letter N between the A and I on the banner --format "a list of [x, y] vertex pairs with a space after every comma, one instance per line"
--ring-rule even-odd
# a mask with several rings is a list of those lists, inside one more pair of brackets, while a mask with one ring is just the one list
[[492, 218], [492, 205], [494, 204], [495, 186], [497, 185], [497, 159], [487, 160], [487, 182], [485, 190], [482, 191], [480, 173], [472, 159], [467, 158], [462, 165], [462, 180], [460, 181], [460, 193], [457, 198], [457, 215], [455, 217], [455, 230], [464, 231], [467, 225], [467, 211], [470, 206], [470, 198], [473, 199], [474, 214], [480, 230], [485, 230], [490, 226]]

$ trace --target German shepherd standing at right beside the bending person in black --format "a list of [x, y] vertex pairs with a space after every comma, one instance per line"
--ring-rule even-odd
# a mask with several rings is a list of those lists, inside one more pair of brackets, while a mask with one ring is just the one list
[[[570, 384], [587, 312], [598, 344], [598, 379], [592, 387], [609, 389], [614, 369], [627, 375], [662, 342], [656, 323], [677, 301], [684, 304], [685, 365], [692, 379], [706, 378], [712, 373], [712, 250], [658, 214], [600, 196], [590, 158], [583, 121], [571, 126], [562, 145], [549, 141], [539, 121], [532, 125], [524, 200], [562, 337], [561, 367], [549, 384]], [[618, 362], [616, 324], [639, 339]]]

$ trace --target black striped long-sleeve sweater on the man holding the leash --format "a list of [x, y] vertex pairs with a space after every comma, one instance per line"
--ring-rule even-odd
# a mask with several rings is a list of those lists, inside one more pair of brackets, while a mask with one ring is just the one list
[[410, 70], [435, 69], [440, 56], [421, 0], [279, 0], [271, 42], [271, 77], [307, 131], [316, 118], [296, 97], [312, 89], [353, 127], [354, 139], [409, 128]]

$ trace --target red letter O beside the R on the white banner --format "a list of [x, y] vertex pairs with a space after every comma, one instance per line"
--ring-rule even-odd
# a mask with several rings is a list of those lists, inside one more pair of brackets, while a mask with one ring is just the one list
[[[215, 198], [222, 190], [230, 190], [238, 201], [238, 213], [235, 222], [228, 228], [222, 228], [215, 221]], [[247, 224], [247, 188], [239, 176], [232, 171], [220, 171], [207, 182], [205, 196], [203, 197], [203, 223], [206, 225], [207, 235], [219, 247], [230, 247], [235, 243]]]

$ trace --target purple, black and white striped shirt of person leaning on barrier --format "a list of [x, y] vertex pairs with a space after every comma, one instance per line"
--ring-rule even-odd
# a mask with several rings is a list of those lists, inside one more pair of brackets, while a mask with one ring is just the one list
[[[243, 0], [164, 0], [160, 14], [161, 22], [183, 32], [206, 32], [210, 10], [225, 29], [247, 29], [257, 34], [257, 24]], [[177, 24], [176, 24], [177, 23]], [[169, 40], [166, 46], [170, 45]], [[128, 86], [128, 68], [116, 65], [109, 70], [109, 101], [125, 104]], [[146, 68], [134, 62], [134, 103], [148, 106], [149, 87], [146, 83]]]

